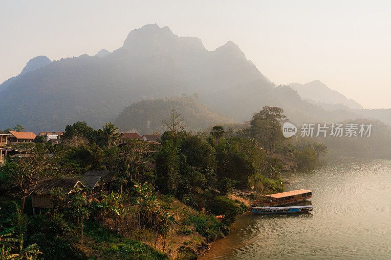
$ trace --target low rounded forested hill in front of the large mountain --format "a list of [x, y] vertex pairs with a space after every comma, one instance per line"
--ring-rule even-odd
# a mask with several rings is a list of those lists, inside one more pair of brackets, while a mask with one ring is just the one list
[[207, 106], [188, 96], [135, 102], [119, 113], [114, 124], [124, 132], [163, 133], [167, 129], [160, 120], [166, 119], [173, 109], [181, 114], [188, 131], [201, 131], [216, 124], [234, 122], [233, 119], [217, 115]]

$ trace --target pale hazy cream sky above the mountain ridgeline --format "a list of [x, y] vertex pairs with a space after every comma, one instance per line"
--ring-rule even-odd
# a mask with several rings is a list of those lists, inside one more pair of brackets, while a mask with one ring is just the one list
[[391, 1], [0, 0], [0, 81], [26, 62], [121, 47], [148, 23], [232, 40], [276, 84], [321, 80], [368, 108], [391, 107]]

